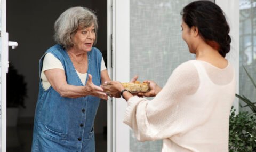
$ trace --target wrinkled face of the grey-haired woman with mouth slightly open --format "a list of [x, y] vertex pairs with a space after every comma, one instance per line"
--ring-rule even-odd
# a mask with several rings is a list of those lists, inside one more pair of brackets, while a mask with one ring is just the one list
[[92, 50], [93, 42], [95, 41], [94, 24], [92, 26], [81, 29], [78, 28], [74, 38], [74, 49], [77, 51], [89, 52]]

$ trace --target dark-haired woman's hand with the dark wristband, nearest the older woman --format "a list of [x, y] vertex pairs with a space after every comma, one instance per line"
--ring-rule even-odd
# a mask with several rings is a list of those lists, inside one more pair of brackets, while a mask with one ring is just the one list
[[101, 85], [103, 90], [108, 90], [111, 92], [109, 94], [110, 97], [120, 98], [120, 92], [124, 89], [124, 86], [119, 81], [106, 81], [105, 84], [108, 85]]

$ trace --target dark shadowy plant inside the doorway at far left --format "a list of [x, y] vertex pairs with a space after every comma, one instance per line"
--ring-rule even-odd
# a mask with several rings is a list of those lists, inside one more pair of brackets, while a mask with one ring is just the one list
[[7, 107], [23, 107], [25, 108], [25, 98], [27, 97], [27, 83], [24, 76], [18, 74], [17, 69], [10, 63], [6, 76], [6, 101]]

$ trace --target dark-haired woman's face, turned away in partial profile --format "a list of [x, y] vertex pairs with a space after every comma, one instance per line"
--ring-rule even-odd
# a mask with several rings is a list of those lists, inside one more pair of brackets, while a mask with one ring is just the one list
[[193, 36], [191, 35], [191, 29], [183, 20], [181, 23], [181, 30], [182, 30], [182, 39], [187, 43], [189, 52], [194, 53], [193, 47], [192, 47]]

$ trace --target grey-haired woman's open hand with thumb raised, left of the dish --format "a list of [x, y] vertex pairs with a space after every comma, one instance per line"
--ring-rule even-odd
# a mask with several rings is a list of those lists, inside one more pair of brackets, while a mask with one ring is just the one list
[[85, 85], [85, 91], [88, 95], [92, 95], [95, 97], [99, 97], [104, 100], [108, 100], [108, 96], [105, 92], [103, 92], [103, 89], [97, 85], [94, 85], [92, 82], [92, 75], [88, 75], [88, 80]]

